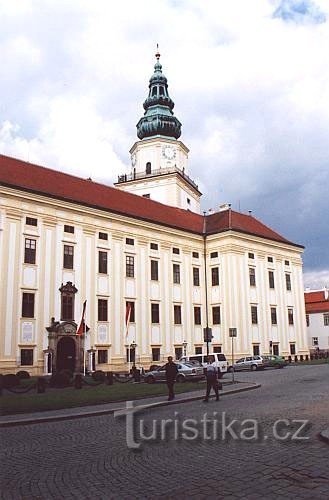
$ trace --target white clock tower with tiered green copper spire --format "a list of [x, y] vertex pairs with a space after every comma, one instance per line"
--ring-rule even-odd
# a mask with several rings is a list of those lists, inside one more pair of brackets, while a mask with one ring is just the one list
[[140, 140], [130, 149], [130, 171], [120, 175], [115, 186], [199, 213], [201, 193], [187, 173], [189, 150], [178, 140], [181, 123], [173, 113], [175, 104], [168, 93], [158, 50], [155, 57], [144, 116], [137, 123]]

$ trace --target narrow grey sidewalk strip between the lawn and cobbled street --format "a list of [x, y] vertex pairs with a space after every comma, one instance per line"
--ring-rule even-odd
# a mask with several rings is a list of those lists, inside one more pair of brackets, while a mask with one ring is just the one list
[[[250, 382], [236, 382], [235, 385], [223, 384], [223, 389], [220, 391], [220, 396], [236, 394], [244, 391], [258, 389], [261, 384]], [[203, 399], [205, 396], [204, 389], [201, 391], [185, 392], [177, 394], [173, 401], [167, 401], [164, 396], [153, 398], [144, 398], [134, 401], [135, 407], [156, 408], [160, 406], [176, 405], [186, 403], [188, 401], [196, 401]], [[126, 403], [117, 401], [114, 403], [83, 406], [78, 408], [65, 408], [63, 410], [51, 410], [37, 413], [18, 413], [15, 415], [4, 415], [0, 417], [0, 428], [13, 427], [17, 425], [40, 424], [44, 422], [58, 422], [60, 420], [71, 420], [75, 418], [93, 417], [97, 415], [109, 415], [117, 410], [126, 408]]]

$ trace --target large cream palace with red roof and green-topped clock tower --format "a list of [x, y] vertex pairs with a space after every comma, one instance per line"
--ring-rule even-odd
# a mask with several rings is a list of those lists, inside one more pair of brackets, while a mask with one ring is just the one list
[[159, 57], [115, 187], [0, 156], [0, 372], [148, 367], [205, 352], [206, 327], [228, 359], [229, 328], [236, 357], [309, 354], [303, 247], [229, 205], [200, 214]]

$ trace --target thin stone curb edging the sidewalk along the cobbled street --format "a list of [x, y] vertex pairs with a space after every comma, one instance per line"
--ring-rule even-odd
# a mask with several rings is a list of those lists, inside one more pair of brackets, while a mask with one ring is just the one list
[[[246, 392], [246, 391], [252, 391], [254, 389], [259, 389], [261, 387], [261, 384], [253, 384], [248, 387], [240, 387], [239, 389], [229, 389], [220, 396], [226, 396], [230, 394], [238, 394], [239, 392]], [[172, 405], [177, 405], [180, 403], [189, 403], [190, 401], [197, 401], [200, 399], [204, 399], [204, 394], [202, 396], [190, 396], [184, 399], [177, 399], [174, 401], [158, 401], [155, 403], [149, 403], [149, 404], [141, 404], [140, 406], [135, 406], [135, 408], [159, 408], [161, 406], [172, 406]], [[85, 407], [88, 408], [88, 407]], [[6, 427], [17, 427], [20, 425], [31, 425], [31, 424], [43, 424], [46, 422], [60, 422], [64, 420], [75, 420], [78, 418], [87, 418], [87, 417], [97, 417], [97, 416], [102, 416], [102, 415], [111, 415], [116, 411], [120, 410], [125, 410], [125, 407], [120, 407], [120, 408], [108, 408], [106, 410], [93, 410], [88, 412], [88, 410], [84, 411], [83, 413], [76, 413], [76, 414], [71, 414], [71, 415], [53, 415], [53, 416], [47, 416], [47, 417], [36, 417], [33, 419], [26, 418], [25, 420], [11, 420], [11, 421], [4, 421], [0, 422], [0, 429], [1, 428], [6, 428]]]

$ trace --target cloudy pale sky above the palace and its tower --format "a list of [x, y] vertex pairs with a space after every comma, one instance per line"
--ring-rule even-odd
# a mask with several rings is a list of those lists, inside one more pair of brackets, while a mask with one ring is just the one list
[[158, 43], [202, 210], [252, 210], [329, 286], [328, 0], [0, 0], [0, 23], [0, 153], [112, 185]]

